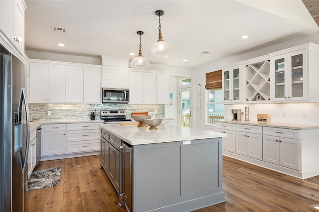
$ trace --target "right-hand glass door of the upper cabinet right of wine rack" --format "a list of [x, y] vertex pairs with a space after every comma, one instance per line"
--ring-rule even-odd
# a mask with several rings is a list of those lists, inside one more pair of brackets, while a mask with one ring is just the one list
[[[291, 65], [291, 83], [289, 87], [291, 87], [291, 93], [289, 93], [289, 96], [291, 98], [300, 99], [305, 96], [304, 91], [304, 79], [306, 77], [305, 74], [305, 66], [304, 66], [304, 54], [298, 54], [299, 52], [295, 52], [296, 54], [291, 54], [290, 59], [290, 65]], [[306, 82], [306, 81], [305, 81]]]

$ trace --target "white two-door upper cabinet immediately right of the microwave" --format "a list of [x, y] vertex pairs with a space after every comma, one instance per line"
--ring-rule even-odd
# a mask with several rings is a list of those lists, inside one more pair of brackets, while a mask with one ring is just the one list
[[130, 104], [168, 104], [168, 74], [130, 71]]

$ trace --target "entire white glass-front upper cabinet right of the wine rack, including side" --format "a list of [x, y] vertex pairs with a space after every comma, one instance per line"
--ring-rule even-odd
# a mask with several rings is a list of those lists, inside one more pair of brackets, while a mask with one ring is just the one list
[[271, 55], [271, 96], [274, 102], [319, 101], [319, 45], [305, 44]]

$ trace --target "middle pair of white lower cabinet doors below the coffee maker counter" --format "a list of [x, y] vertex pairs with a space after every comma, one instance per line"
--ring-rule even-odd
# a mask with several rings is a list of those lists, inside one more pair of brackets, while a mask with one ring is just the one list
[[263, 135], [236, 131], [235, 143], [237, 154], [263, 159]]

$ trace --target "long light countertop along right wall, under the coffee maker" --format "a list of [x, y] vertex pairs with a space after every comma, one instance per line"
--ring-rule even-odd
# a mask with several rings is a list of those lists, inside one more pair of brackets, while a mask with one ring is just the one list
[[240, 120], [240, 121], [215, 120], [215, 122], [258, 125], [258, 126], [278, 127], [278, 128], [285, 128], [285, 129], [297, 129], [297, 130], [319, 129], [319, 125], [306, 125], [306, 124], [291, 124], [291, 123], [276, 123], [276, 122], [258, 123], [257, 121], [245, 121], [245, 120]]

